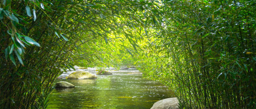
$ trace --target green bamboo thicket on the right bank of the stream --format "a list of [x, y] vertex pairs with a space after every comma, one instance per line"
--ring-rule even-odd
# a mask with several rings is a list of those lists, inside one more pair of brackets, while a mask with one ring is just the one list
[[148, 33], [154, 38], [138, 58], [140, 70], [193, 109], [255, 108], [254, 2], [163, 2], [164, 22]]

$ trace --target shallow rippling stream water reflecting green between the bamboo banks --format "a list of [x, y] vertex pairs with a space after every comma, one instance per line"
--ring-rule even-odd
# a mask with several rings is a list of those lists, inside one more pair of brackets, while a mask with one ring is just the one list
[[[95, 68], [79, 69], [96, 74]], [[136, 68], [106, 69], [112, 75], [97, 75], [97, 79], [57, 79], [74, 84], [75, 88], [50, 94], [48, 109], [150, 109], [160, 99], [174, 97], [168, 87], [142, 78]], [[75, 71], [64, 72], [66, 77]], [[55, 84], [54, 83], [54, 84]]]

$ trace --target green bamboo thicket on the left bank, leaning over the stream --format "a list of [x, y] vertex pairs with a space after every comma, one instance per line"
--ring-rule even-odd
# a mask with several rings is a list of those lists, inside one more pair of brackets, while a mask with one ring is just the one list
[[100, 57], [105, 51], [98, 47], [110, 45], [110, 35], [136, 27], [128, 17], [141, 13], [146, 4], [154, 5], [133, 0], [2, 0], [0, 108], [44, 108], [61, 68], [107, 65]]

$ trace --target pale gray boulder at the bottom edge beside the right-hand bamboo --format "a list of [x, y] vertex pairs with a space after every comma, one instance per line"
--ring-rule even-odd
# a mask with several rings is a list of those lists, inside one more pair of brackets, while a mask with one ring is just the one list
[[179, 109], [179, 101], [177, 97], [162, 99], [158, 102], [155, 102], [153, 107], [150, 109]]

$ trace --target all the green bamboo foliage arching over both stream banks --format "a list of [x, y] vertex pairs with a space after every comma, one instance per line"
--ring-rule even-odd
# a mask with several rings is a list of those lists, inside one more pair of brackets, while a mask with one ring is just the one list
[[195, 109], [255, 108], [255, 0], [2, 0], [0, 108], [44, 108], [61, 68], [140, 66]]

